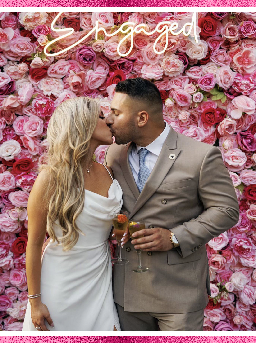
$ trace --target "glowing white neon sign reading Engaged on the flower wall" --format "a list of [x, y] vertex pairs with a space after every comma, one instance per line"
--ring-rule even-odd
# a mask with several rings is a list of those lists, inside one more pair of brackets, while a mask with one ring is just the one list
[[[62, 14], [63, 12], [59, 12], [56, 17], [54, 18], [54, 20], [52, 21], [52, 24], [51, 24], [51, 29], [55, 32], [67, 32], [65, 33], [64, 35], [62, 36], [59, 36], [53, 40], [51, 40], [49, 43], [47, 43], [44, 47], [44, 54], [46, 56], [57, 56], [59, 54], [62, 54], [63, 52], [65, 51], [68, 51], [70, 50], [71, 48], [75, 47], [76, 45], [78, 45], [79, 43], [83, 42], [87, 37], [89, 37], [93, 32], [95, 32], [95, 39], [97, 40], [98, 39], [98, 33], [100, 31], [103, 31], [105, 36], [107, 37], [112, 37], [112, 36], [115, 36], [116, 34], [118, 34], [119, 32], [122, 33], [122, 34], [126, 34], [119, 42], [118, 44], [118, 47], [117, 47], [117, 52], [118, 52], [118, 55], [119, 56], [122, 56], [122, 57], [125, 57], [125, 56], [128, 56], [130, 54], [130, 52], [132, 51], [132, 48], [133, 48], [133, 35], [134, 34], [138, 34], [138, 33], [141, 33], [143, 32], [145, 35], [153, 35], [155, 32], [158, 32], [159, 33], [159, 36], [156, 38], [155, 42], [154, 42], [154, 45], [153, 45], [153, 50], [156, 54], [163, 54], [163, 52], [165, 52], [165, 50], [167, 49], [167, 46], [168, 46], [168, 33], [170, 32], [171, 35], [173, 36], [178, 36], [179, 34], [183, 33], [184, 36], [189, 36], [191, 31], [192, 31], [192, 27], [193, 27], [193, 37], [196, 41], [196, 43], [198, 43], [198, 37], [197, 37], [197, 32], [196, 32], [196, 12], [193, 12], [193, 15], [192, 15], [192, 19], [191, 19], [191, 22], [189, 23], [185, 23], [183, 25], [183, 27], [178, 31], [178, 32], [174, 32], [174, 30], [176, 30], [179, 26], [179, 24], [177, 22], [169, 22], [169, 21], [163, 21], [163, 22], [160, 22], [157, 24], [156, 28], [151, 31], [151, 32], [147, 32], [145, 31], [145, 26], [146, 24], [138, 24], [134, 27], [135, 23], [133, 22], [126, 22], [126, 23], [123, 23], [119, 29], [117, 29], [116, 31], [114, 31], [113, 33], [107, 33], [105, 28], [104, 27], [99, 27], [99, 21], [97, 20], [96, 21], [96, 25], [91, 29], [90, 32], [88, 32], [84, 37], [82, 37], [81, 39], [79, 39], [76, 43], [74, 44], [71, 44], [70, 46], [68, 46], [67, 48], [61, 50], [61, 51], [58, 51], [58, 52], [54, 52], [53, 54], [49, 54], [46, 50], [47, 48], [49, 48], [51, 45], [53, 45], [55, 42], [58, 42], [59, 40], [63, 39], [63, 38], [66, 38], [68, 36], [70, 36], [71, 34], [74, 33], [74, 28], [72, 27], [66, 27], [66, 28], [54, 28], [54, 24], [56, 23], [57, 19], [60, 17], [60, 15]], [[163, 25], [163, 26], [162, 26]], [[127, 27], [128, 26], [128, 27]], [[144, 27], [143, 27], [144, 26]], [[162, 26], [162, 27], [160, 27]], [[186, 27], [189, 27], [189, 30], [188, 32], [186, 32]], [[156, 45], [159, 41], [160, 38], [162, 38], [163, 36], [166, 36], [166, 42], [165, 42], [165, 47], [163, 48], [162, 51], [157, 51], [156, 50]], [[130, 49], [125, 53], [125, 54], [122, 54], [120, 52], [120, 46], [121, 44], [125, 41], [125, 39], [127, 38], [131, 38], [131, 47]]]

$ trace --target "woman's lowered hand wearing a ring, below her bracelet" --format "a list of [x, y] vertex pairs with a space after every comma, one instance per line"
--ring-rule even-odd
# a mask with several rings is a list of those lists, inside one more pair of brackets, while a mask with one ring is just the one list
[[46, 305], [44, 305], [40, 299], [40, 297], [37, 298], [30, 298], [30, 305], [31, 305], [31, 319], [33, 322], [33, 325], [35, 328], [41, 328], [37, 329], [38, 331], [50, 331], [46, 328], [44, 319], [47, 320], [48, 324], [54, 328], [52, 318], [49, 314], [48, 308]]

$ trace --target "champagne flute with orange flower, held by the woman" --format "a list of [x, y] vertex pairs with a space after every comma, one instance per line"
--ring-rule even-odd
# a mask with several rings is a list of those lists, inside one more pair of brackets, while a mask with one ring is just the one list
[[116, 242], [118, 244], [118, 258], [113, 258], [111, 260], [114, 264], [126, 264], [129, 260], [125, 258], [121, 258], [122, 246], [121, 246], [121, 239], [127, 229], [128, 226], [128, 213], [126, 211], [115, 211], [113, 213], [113, 226], [114, 226], [114, 233]]

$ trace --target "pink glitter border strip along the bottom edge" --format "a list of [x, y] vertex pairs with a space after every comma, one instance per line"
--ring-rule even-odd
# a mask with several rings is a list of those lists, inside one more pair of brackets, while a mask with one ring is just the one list
[[62, 342], [62, 343], [97, 343], [97, 342], [115, 342], [115, 343], [133, 343], [133, 342], [166, 342], [166, 343], [254, 343], [253, 336], [0, 336], [2, 343], [15, 342]]

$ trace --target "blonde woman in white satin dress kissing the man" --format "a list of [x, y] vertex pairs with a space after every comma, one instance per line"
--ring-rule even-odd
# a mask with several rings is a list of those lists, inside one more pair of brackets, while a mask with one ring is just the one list
[[[97, 146], [112, 137], [97, 99], [68, 99], [49, 120], [47, 164], [27, 206], [22, 331], [120, 331], [108, 238], [122, 189], [109, 167], [92, 162]], [[51, 240], [41, 263], [46, 230]]]

